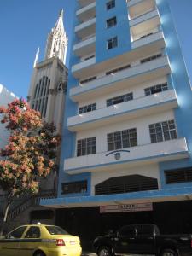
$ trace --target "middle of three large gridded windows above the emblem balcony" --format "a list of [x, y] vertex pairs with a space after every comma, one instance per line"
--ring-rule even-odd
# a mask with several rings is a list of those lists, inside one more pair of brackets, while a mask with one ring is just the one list
[[137, 146], [136, 128], [108, 133], [108, 151], [135, 146]]

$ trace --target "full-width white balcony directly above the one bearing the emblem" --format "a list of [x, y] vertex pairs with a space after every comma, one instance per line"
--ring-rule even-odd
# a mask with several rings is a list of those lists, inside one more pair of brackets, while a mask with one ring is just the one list
[[70, 131], [85, 131], [99, 126], [119, 123], [144, 115], [164, 112], [177, 108], [174, 90], [166, 90], [151, 96], [143, 96], [129, 102], [122, 102], [108, 108], [100, 108], [67, 119]]

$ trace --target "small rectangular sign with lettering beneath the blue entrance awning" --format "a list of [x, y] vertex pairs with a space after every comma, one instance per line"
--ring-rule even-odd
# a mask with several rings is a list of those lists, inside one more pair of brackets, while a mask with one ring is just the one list
[[111, 205], [100, 207], [100, 213], [108, 212], [144, 212], [153, 211], [152, 203], [138, 203], [127, 205]]

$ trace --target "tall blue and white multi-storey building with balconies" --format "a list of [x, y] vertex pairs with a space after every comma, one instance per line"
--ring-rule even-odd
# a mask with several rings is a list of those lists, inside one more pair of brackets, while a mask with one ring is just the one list
[[83, 247], [123, 224], [192, 229], [192, 92], [167, 1], [75, 8], [58, 198], [42, 205]]

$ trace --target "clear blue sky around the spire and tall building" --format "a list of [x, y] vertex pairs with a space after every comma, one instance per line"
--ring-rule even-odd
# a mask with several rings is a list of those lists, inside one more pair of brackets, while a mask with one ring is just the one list
[[[74, 1], [0, 0], [0, 84], [26, 98], [36, 51], [40, 47], [39, 60], [43, 60], [47, 35], [60, 9], [64, 9], [64, 26], [70, 45]], [[167, 1], [192, 80], [192, 0]]]

